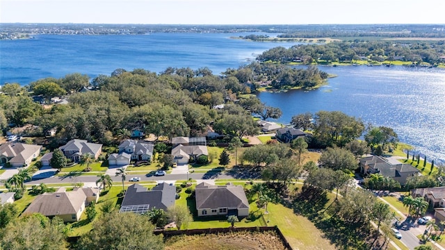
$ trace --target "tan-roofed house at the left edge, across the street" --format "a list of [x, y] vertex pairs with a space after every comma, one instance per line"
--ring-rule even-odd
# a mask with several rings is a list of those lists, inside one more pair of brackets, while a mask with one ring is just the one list
[[0, 146], [0, 163], [10, 163], [13, 167], [28, 167], [40, 155], [42, 146], [7, 142]]

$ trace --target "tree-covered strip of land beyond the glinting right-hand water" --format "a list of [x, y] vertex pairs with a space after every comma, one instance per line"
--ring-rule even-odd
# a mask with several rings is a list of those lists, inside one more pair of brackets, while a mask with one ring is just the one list
[[[437, 65], [444, 60], [445, 40], [438, 42], [330, 42], [327, 44], [299, 44], [289, 49], [275, 47], [257, 56], [260, 62], [310, 64], [323, 60], [341, 62], [351, 60], [401, 60], [412, 63]], [[441, 58], [442, 57], [442, 58]]]

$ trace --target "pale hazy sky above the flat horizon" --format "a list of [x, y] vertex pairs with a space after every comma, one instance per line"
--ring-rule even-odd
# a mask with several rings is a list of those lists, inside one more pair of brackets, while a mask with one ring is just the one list
[[444, 24], [442, 0], [0, 0], [0, 22]]

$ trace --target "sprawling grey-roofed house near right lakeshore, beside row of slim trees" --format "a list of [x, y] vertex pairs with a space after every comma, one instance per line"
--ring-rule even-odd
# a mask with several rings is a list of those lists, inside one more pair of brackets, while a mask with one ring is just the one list
[[360, 159], [360, 172], [365, 175], [379, 173], [393, 178], [401, 185], [405, 185], [408, 177], [420, 173], [419, 169], [412, 165], [402, 163], [393, 165], [380, 156], [367, 156]]

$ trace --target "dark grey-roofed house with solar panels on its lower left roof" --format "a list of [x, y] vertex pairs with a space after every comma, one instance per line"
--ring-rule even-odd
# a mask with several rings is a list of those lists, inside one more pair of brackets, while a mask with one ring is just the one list
[[152, 190], [133, 184], [125, 192], [119, 213], [145, 213], [153, 208], [167, 210], [175, 204], [176, 187], [173, 184], [159, 183]]

